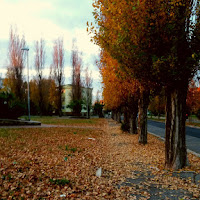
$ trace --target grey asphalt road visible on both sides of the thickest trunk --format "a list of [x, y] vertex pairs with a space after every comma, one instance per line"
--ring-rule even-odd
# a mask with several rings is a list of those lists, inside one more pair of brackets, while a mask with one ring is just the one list
[[[165, 138], [165, 123], [148, 120], [148, 132]], [[200, 128], [186, 127], [186, 145], [190, 151], [200, 156]]]

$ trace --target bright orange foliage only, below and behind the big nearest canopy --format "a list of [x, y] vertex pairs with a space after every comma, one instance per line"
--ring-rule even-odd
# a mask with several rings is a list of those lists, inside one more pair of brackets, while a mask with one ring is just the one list
[[109, 109], [126, 104], [129, 96], [137, 96], [138, 82], [120, 69], [117, 60], [106, 51], [101, 52], [100, 72], [103, 78], [104, 102]]

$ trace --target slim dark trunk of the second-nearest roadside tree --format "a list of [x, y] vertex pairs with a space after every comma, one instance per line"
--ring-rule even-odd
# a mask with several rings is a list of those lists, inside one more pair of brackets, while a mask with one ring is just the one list
[[149, 90], [141, 90], [138, 101], [138, 133], [139, 143], [147, 144], [147, 109], [149, 105]]

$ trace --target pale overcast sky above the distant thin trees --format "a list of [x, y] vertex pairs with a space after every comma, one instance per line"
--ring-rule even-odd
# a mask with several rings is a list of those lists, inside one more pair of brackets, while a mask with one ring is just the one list
[[[86, 31], [87, 21], [92, 22], [93, 0], [0, 0], [0, 75], [5, 76], [8, 62], [8, 38], [11, 25], [24, 35], [30, 49], [30, 68], [33, 72], [34, 42], [43, 38], [46, 42], [46, 65], [52, 62], [52, 45], [63, 37], [65, 48], [66, 83], [70, 83], [72, 39], [82, 52], [84, 66], [92, 70], [94, 94], [101, 88], [100, 75], [95, 60], [99, 48], [90, 42]], [[26, 73], [26, 71], [25, 71]], [[48, 72], [46, 73], [48, 74]]]

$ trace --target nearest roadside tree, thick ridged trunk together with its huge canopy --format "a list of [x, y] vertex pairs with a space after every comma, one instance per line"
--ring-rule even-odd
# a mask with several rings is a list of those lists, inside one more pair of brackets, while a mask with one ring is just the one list
[[187, 88], [200, 58], [199, 1], [97, 0], [93, 5], [96, 43], [145, 87], [165, 87], [165, 165], [184, 167]]

